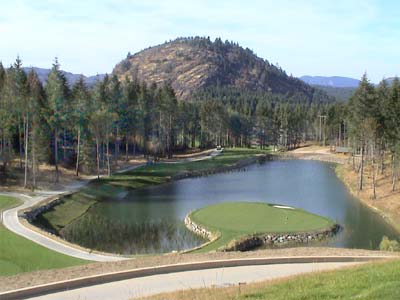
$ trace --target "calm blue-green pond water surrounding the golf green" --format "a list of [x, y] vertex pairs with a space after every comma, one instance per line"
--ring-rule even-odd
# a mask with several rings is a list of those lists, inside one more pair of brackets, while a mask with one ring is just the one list
[[[191, 211], [222, 201], [261, 201], [303, 208], [344, 227], [323, 246], [376, 249], [383, 235], [398, 234], [351, 196], [331, 164], [270, 161], [246, 172], [217, 174], [159, 185], [100, 202], [65, 229], [84, 246], [118, 253], [161, 253], [204, 242], [183, 226]], [[94, 225], [94, 226], [93, 226]], [[315, 244], [314, 244], [315, 246]]]

